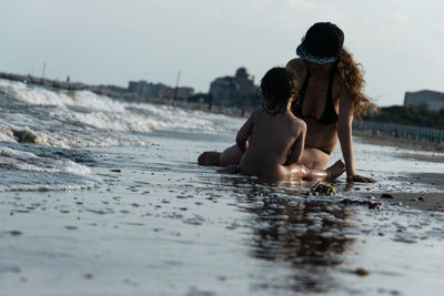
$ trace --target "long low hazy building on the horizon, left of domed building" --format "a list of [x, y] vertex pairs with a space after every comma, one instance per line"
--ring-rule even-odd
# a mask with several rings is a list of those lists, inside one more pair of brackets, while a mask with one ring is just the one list
[[[128, 84], [128, 90], [129, 92], [133, 92], [147, 98], [172, 99], [174, 95], [174, 88], [168, 86], [162, 83], [147, 82], [144, 80], [130, 81]], [[176, 99], [185, 100], [193, 94], [194, 89], [192, 88], [178, 88]]]

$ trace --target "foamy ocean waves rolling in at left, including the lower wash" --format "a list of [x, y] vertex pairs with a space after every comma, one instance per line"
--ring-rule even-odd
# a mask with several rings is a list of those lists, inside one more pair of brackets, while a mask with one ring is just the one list
[[234, 133], [240, 119], [0, 80], [1, 191], [90, 188], [90, 147], [150, 144], [150, 133]]

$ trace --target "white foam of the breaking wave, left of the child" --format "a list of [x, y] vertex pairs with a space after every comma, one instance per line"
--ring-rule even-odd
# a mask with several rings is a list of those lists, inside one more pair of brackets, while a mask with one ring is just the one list
[[11, 129], [30, 129], [39, 142], [63, 147], [138, 142], [132, 133], [200, 131], [234, 133], [241, 119], [169, 105], [125, 102], [90, 91], [56, 91], [0, 80], [10, 100], [1, 112], [0, 140], [14, 141]]

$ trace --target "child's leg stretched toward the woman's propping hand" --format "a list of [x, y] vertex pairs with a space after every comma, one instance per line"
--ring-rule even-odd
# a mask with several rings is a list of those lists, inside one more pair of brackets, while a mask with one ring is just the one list
[[303, 164], [292, 164], [290, 165], [290, 175], [291, 178], [303, 178], [307, 181], [312, 180], [335, 180], [342, 173], [345, 172], [345, 165], [342, 161], [335, 162], [332, 166], [326, 170], [316, 170], [316, 169], [307, 169]]

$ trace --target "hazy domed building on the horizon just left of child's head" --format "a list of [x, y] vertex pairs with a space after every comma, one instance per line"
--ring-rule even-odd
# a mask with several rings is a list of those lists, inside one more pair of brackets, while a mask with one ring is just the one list
[[213, 104], [216, 105], [249, 105], [250, 98], [258, 94], [258, 86], [254, 84], [254, 78], [242, 67], [234, 76], [216, 78], [211, 82], [210, 93]]

